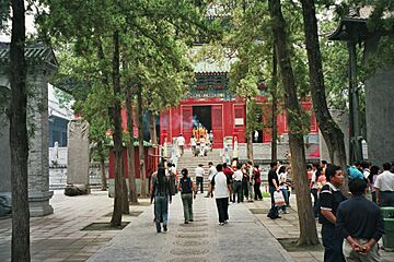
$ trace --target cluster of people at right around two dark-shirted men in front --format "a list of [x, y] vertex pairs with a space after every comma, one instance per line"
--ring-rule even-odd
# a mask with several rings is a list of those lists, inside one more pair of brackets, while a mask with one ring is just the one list
[[340, 191], [341, 168], [326, 162], [313, 165], [311, 192], [322, 224], [324, 261], [380, 261], [376, 243], [384, 234], [380, 206], [394, 206], [393, 169], [390, 163], [380, 168], [355, 162], [348, 169], [347, 199]]

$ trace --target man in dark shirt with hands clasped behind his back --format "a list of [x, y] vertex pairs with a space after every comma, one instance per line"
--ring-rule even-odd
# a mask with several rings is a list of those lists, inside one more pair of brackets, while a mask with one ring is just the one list
[[384, 234], [384, 221], [379, 206], [366, 199], [367, 182], [349, 183], [351, 199], [339, 204], [336, 227], [344, 243], [344, 255], [351, 261], [380, 261], [376, 242]]

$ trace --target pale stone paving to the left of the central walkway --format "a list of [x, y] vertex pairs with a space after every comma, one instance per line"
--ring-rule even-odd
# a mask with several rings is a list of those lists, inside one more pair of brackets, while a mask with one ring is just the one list
[[[111, 217], [103, 216], [112, 211], [113, 202], [105, 191], [71, 198], [56, 190], [50, 200], [55, 213], [31, 218], [32, 261], [86, 261], [119, 233], [81, 231], [90, 223], [109, 222]], [[0, 261], [11, 261], [11, 218], [0, 219]]]

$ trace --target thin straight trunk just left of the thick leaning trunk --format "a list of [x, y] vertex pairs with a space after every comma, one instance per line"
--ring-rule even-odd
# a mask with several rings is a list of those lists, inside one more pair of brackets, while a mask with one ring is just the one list
[[273, 97], [273, 108], [271, 108], [271, 162], [278, 160], [278, 124], [277, 124], [277, 115], [278, 115], [278, 63], [276, 59], [276, 51], [274, 48], [273, 53], [273, 81], [270, 93]]

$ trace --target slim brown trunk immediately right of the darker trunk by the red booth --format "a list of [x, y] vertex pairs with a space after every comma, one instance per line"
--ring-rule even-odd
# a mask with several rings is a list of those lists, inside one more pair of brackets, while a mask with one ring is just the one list
[[127, 131], [129, 134], [130, 143], [127, 146], [127, 156], [128, 156], [128, 175], [129, 175], [129, 201], [131, 204], [136, 205], [138, 203], [137, 194], [137, 183], [136, 183], [136, 162], [135, 162], [135, 145], [134, 145], [134, 117], [132, 117], [132, 97], [131, 97], [131, 87], [127, 91], [126, 94], [126, 112], [127, 112]]

